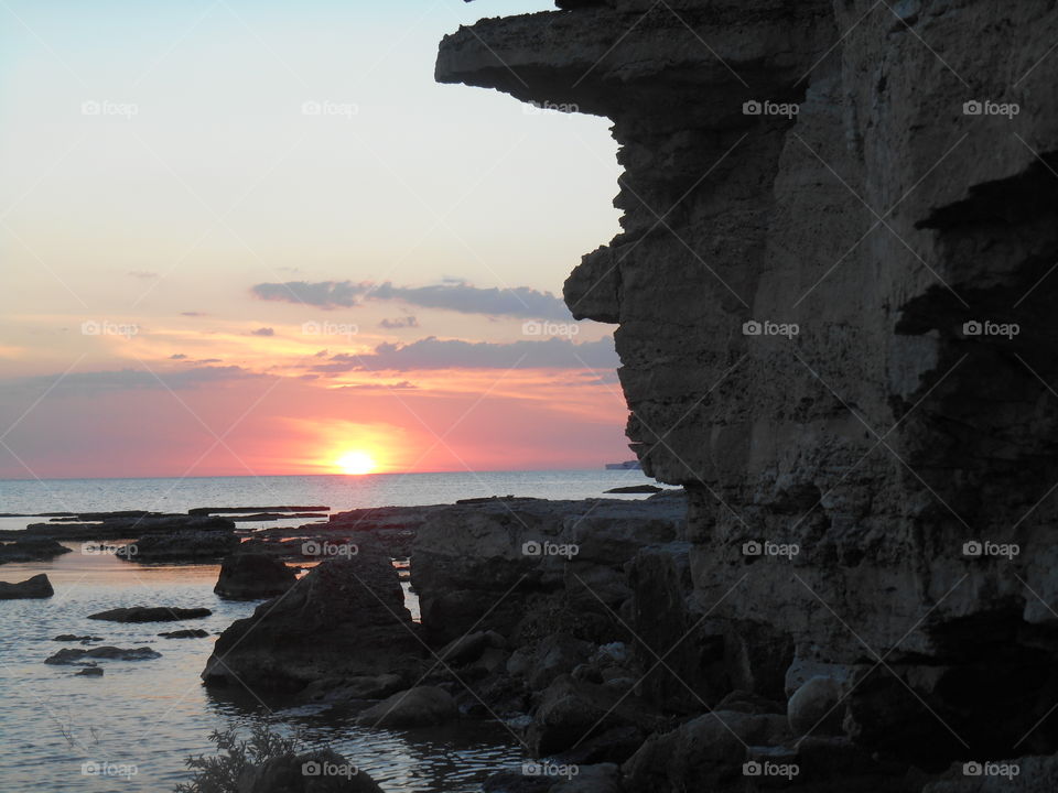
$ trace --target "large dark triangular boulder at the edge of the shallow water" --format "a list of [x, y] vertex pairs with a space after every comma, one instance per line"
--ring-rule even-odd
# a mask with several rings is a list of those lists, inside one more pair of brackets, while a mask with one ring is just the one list
[[423, 655], [390, 558], [360, 553], [323, 562], [234, 622], [202, 677], [210, 686], [242, 685], [267, 696], [328, 677], [392, 673], [410, 682], [424, 671]]

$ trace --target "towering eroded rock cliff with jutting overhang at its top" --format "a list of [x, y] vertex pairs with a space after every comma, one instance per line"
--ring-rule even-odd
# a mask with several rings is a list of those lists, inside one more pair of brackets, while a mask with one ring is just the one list
[[442, 43], [441, 82], [613, 121], [624, 230], [565, 300], [689, 492], [639, 586], [659, 654], [704, 620], [670, 676], [705, 700], [822, 664], [888, 757], [1058, 749], [1056, 37], [1043, 1], [616, 0]]

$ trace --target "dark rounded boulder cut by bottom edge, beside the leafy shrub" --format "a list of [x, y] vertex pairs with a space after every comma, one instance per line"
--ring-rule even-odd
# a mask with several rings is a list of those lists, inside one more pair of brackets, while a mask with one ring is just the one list
[[382, 793], [355, 764], [331, 749], [290, 752], [242, 771], [236, 793]]

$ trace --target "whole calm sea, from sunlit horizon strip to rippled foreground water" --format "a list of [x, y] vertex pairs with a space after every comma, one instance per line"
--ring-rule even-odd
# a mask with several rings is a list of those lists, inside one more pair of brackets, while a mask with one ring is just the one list
[[[0, 513], [152, 510], [196, 507], [364, 507], [452, 503], [487, 496], [581, 499], [649, 484], [637, 470], [549, 470], [185, 479], [0, 480]], [[607, 496], [607, 498], [644, 498]], [[0, 518], [19, 529], [43, 519]], [[293, 523], [305, 523], [304, 519]], [[252, 524], [241, 524], [253, 528]], [[262, 523], [277, 525], [277, 523]], [[304, 709], [273, 710], [245, 697], [207, 691], [198, 677], [216, 636], [249, 616], [256, 602], [213, 593], [218, 565], [137, 565], [108, 554], [74, 553], [50, 562], [0, 565], [0, 580], [46, 573], [46, 600], [0, 600], [0, 791], [172, 791], [191, 780], [186, 760], [214, 752], [208, 736], [257, 724], [299, 732], [306, 747], [328, 746], [387, 793], [471, 793], [499, 770], [518, 770], [522, 747], [503, 727], [463, 721], [457, 728], [384, 730], [349, 717]], [[186, 622], [122, 624], [88, 620], [105, 609], [205, 606], [213, 615]], [[203, 639], [166, 639], [161, 631], [202, 628]], [[50, 665], [63, 633], [100, 637], [94, 647], [150, 647], [160, 658], [104, 661], [101, 677]]]

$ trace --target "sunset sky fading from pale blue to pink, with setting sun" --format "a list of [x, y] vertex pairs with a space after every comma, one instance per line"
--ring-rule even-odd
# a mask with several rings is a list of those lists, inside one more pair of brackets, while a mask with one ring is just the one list
[[549, 7], [0, 0], [0, 478], [626, 459], [608, 121], [433, 82]]

